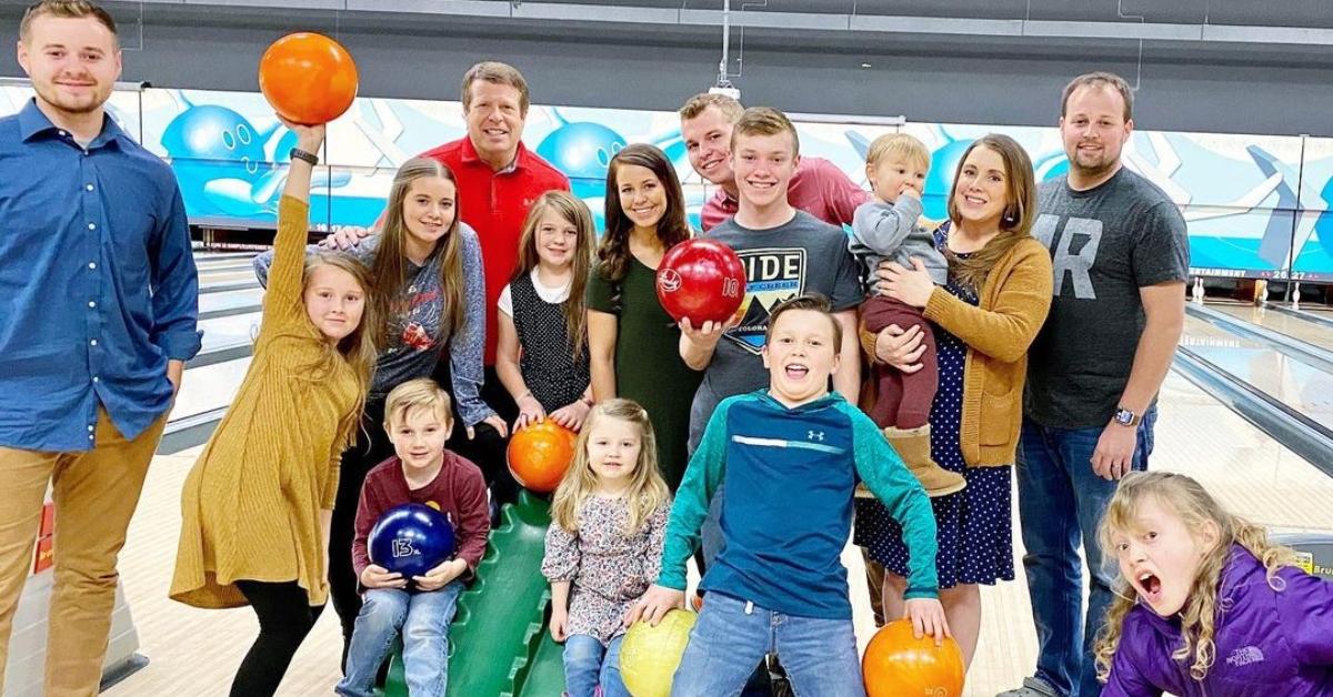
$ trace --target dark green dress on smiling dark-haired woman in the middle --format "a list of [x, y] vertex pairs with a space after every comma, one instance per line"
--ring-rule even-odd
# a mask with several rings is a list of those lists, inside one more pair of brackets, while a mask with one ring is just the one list
[[608, 281], [597, 265], [588, 279], [588, 309], [619, 319], [616, 396], [648, 410], [657, 436], [657, 466], [676, 493], [688, 464], [689, 405], [704, 373], [680, 357], [680, 329], [657, 303], [656, 276], [633, 256], [619, 284]]

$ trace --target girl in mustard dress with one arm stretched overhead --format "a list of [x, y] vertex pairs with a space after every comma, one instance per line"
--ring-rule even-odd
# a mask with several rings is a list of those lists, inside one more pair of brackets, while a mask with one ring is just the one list
[[307, 259], [311, 172], [324, 127], [297, 136], [277, 212], [264, 319], [245, 381], [181, 496], [171, 597], [251, 605], [260, 633], [232, 696], [273, 694], [328, 597], [325, 541], [339, 454], [376, 358], [377, 313], [359, 261]]

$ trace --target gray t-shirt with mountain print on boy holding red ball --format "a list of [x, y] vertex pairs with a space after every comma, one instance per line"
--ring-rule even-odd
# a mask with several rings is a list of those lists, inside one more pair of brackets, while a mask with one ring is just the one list
[[694, 450], [717, 402], [768, 386], [768, 369], [760, 352], [773, 305], [802, 293], [820, 293], [834, 311], [856, 308], [864, 295], [856, 260], [848, 252], [846, 233], [822, 220], [796, 211], [796, 217], [776, 228], [756, 231], [730, 219], [704, 237], [726, 244], [745, 267], [745, 297], [741, 321], [717, 341], [713, 360], [694, 393], [689, 412], [689, 449]]

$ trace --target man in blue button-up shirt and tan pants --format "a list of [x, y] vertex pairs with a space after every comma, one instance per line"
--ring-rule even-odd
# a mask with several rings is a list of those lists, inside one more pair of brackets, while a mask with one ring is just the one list
[[111, 16], [39, 3], [17, 52], [37, 96], [0, 119], [0, 692], [49, 482], [45, 693], [95, 694], [116, 556], [200, 347], [199, 279], [171, 168], [103, 109]]

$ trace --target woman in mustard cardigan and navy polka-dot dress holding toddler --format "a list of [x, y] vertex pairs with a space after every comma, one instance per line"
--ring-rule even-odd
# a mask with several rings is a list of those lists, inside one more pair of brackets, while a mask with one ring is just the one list
[[[949, 261], [938, 287], [920, 263], [880, 268], [880, 289], [925, 309], [936, 329], [940, 388], [930, 409], [930, 453], [960, 472], [966, 486], [932, 498], [938, 526], [940, 602], [972, 664], [981, 630], [977, 584], [1013, 580], [1012, 506], [1014, 450], [1022, 418], [1028, 345], [1050, 308], [1050, 255], [1030, 235], [1037, 215], [1032, 161], [1013, 139], [988, 135], [958, 161], [949, 220], [936, 244]], [[890, 337], [881, 362], [914, 369], [917, 329]], [[864, 335], [876, 353], [877, 337]], [[856, 544], [884, 564], [884, 614], [902, 616], [906, 548], [901, 529], [874, 500], [857, 500]]]

